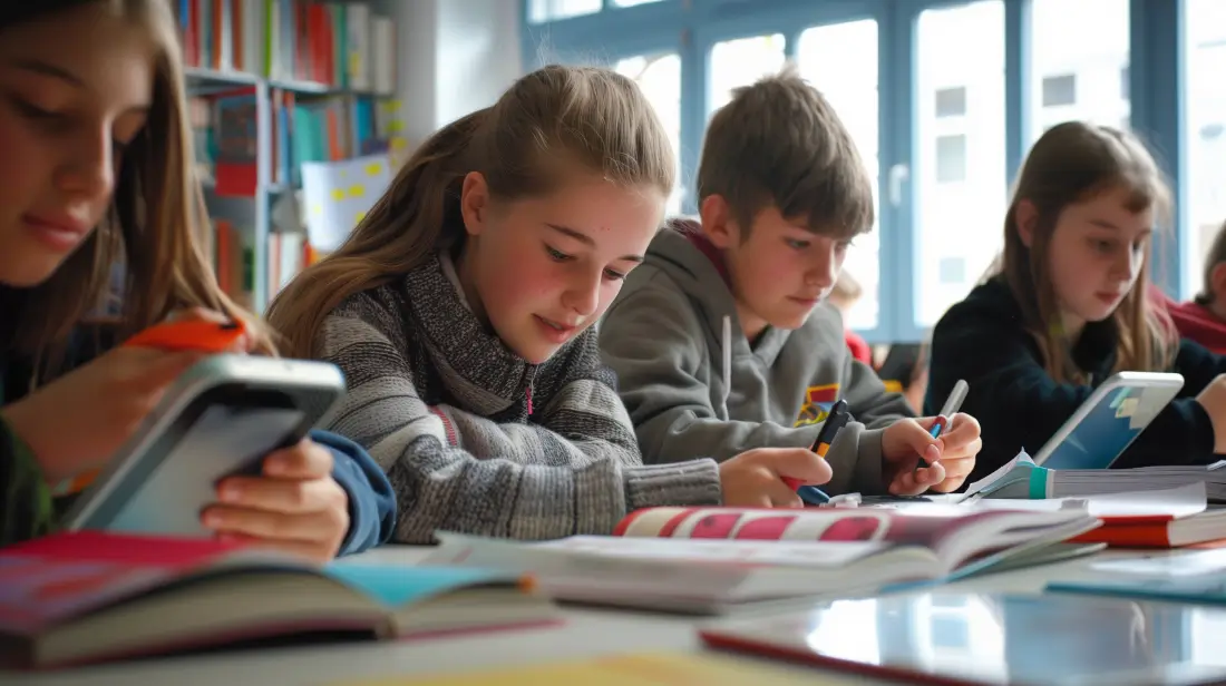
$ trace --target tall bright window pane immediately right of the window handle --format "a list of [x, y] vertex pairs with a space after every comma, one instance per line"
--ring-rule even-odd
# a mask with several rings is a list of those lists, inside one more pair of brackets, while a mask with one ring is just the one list
[[926, 10], [917, 37], [915, 316], [928, 327], [978, 283], [1002, 245], [1004, 4]]

